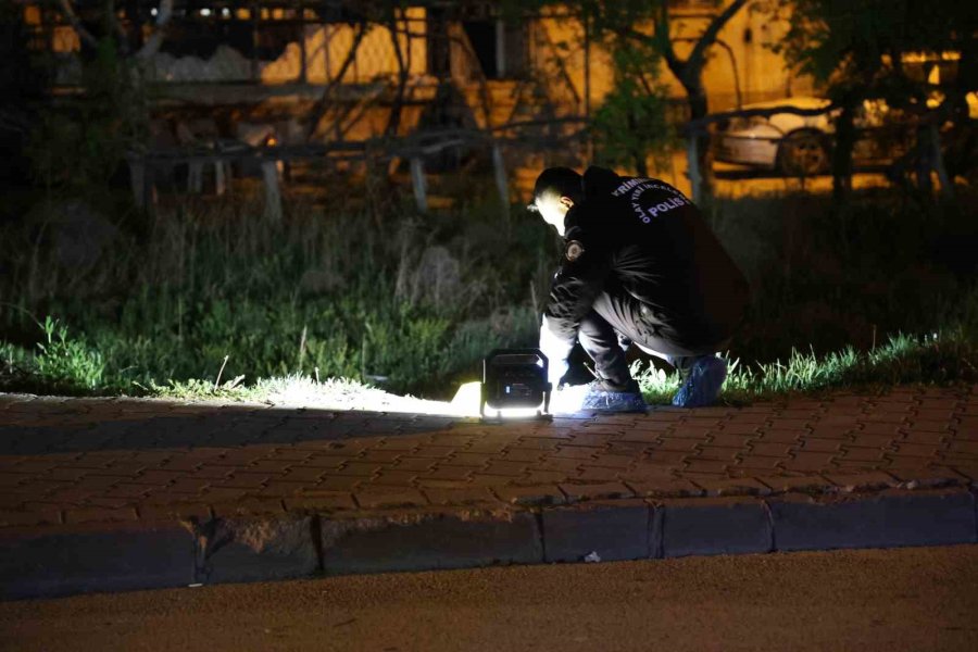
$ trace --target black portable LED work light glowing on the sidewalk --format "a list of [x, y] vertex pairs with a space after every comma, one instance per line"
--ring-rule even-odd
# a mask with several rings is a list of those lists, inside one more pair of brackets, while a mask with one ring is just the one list
[[547, 356], [539, 349], [496, 349], [482, 360], [479, 414], [550, 418]]

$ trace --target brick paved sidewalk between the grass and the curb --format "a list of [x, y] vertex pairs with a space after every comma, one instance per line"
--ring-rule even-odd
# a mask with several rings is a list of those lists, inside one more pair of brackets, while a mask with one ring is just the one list
[[0, 526], [978, 482], [978, 386], [485, 425], [0, 394]]

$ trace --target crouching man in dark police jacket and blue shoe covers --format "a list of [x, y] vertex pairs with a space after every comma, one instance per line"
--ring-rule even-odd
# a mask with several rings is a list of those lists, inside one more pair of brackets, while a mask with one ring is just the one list
[[551, 167], [528, 208], [564, 238], [540, 330], [554, 388], [580, 341], [598, 376], [585, 408], [634, 406], [636, 398], [643, 406], [625, 362], [631, 342], [679, 371], [674, 405], [715, 402], [727, 376], [716, 352], [743, 319], [749, 289], [692, 202], [657, 179]]

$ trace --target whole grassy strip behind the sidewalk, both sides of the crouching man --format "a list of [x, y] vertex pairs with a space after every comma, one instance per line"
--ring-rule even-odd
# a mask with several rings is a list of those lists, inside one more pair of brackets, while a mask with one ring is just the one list
[[[247, 196], [150, 218], [52, 203], [8, 221], [0, 389], [450, 398], [491, 349], [535, 344], [560, 255], [537, 217], [501, 218], [471, 183], [468, 203], [436, 215], [384, 191], [359, 210], [292, 203], [280, 223]], [[967, 205], [886, 195], [843, 212], [811, 196], [714, 205], [713, 227], [754, 292], [725, 399], [978, 380]], [[74, 250], [79, 230], [103, 235]], [[678, 385], [636, 372], [652, 402]]]

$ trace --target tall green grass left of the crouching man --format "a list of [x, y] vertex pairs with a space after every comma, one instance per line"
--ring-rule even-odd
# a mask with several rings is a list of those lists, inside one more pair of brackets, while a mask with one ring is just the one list
[[[51, 235], [57, 215], [10, 234], [0, 386], [145, 393], [223, 369], [249, 384], [318, 374], [432, 393], [486, 351], [536, 337], [531, 251], [549, 235], [528, 216], [490, 229], [486, 216], [399, 205], [373, 216], [293, 205], [280, 224], [249, 211], [178, 206], [141, 234], [120, 229], [74, 273]], [[518, 259], [493, 269], [507, 252]]]

